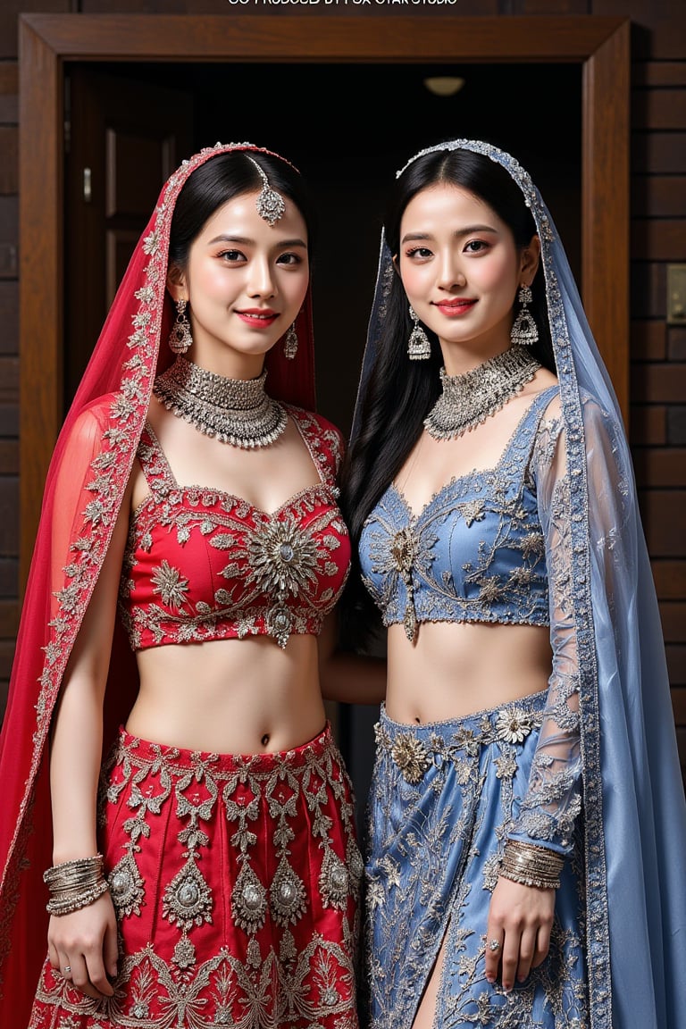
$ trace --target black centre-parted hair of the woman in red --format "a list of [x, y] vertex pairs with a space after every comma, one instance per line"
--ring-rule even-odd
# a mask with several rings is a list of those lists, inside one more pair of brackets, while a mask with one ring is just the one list
[[179, 193], [170, 227], [170, 268], [175, 265], [182, 271], [186, 268], [193, 240], [215, 211], [236, 197], [262, 188], [262, 177], [253, 162], [266, 175], [270, 188], [291, 200], [302, 215], [312, 256], [317, 218], [314, 201], [300, 173], [277, 154], [229, 150], [196, 168]]

